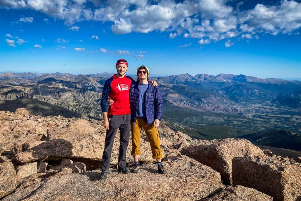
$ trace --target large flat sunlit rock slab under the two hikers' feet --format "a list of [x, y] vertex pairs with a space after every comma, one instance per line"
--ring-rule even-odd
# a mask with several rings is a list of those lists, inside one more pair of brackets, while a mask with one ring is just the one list
[[[49, 177], [6, 196], [3, 201], [32, 200], [197, 200], [224, 188], [220, 175], [187, 156], [168, 157], [167, 174], [156, 165], [142, 164], [138, 174], [110, 169], [106, 180], [100, 170]], [[155, 179], [157, 178], [157, 179]], [[133, 184], [135, 181], [135, 184]]]

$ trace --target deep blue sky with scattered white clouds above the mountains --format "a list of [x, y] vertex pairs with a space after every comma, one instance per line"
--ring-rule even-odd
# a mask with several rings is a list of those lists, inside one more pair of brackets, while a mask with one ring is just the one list
[[0, 0], [0, 72], [301, 78], [301, 1]]

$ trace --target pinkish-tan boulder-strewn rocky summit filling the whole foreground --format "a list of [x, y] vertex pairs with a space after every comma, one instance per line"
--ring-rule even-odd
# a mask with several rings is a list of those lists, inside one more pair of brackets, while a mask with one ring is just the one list
[[[0, 199], [301, 200], [299, 158], [263, 152], [244, 139], [195, 140], [164, 124], [159, 136], [167, 174], [157, 173], [145, 133], [139, 173], [119, 173], [117, 133], [110, 174], [99, 180], [102, 124], [33, 116], [24, 108], [0, 111]], [[129, 168], [131, 144], [130, 139]]]

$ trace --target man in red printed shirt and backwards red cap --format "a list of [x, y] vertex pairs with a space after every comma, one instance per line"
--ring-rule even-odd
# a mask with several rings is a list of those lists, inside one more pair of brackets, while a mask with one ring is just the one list
[[[129, 89], [135, 80], [126, 76], [129, 69], [128, 62], [125, 59], [119, 59], [116, 63], [117, 74], [113, 75], [104, 83], [101, 97], [101, 110], [104, 117], [104, 127], [107, 129], [104, 152], [102, 154], [101, 176], [100, 179], [106, 179], [110, 174], [111, 152], [116, 132], [120, 131], [120, 145], [118, 155], [118, 171], [124, 174], [130, 173], [126, 167], [126, 149], [129, 143], [131, 130], [131, 109], [129, 104]], [[153, 85], [157, 82], [151, 81]], [[107, 109], [107, 100], [110, 97], [114, 101]], [[108, 116], [107, 116], [107, 113]]]

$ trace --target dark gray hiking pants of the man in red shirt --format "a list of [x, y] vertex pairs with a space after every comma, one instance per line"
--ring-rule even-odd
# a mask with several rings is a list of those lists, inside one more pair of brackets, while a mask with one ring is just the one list
[[118, 166], [126, 167], [126, 149], [128, 148], [131, 130], [131, 114], [109, 115], [109, 124], [110, 128], [107, 130], [104, 152], [102, 154], [101, 170], [107, 170], [110, 168], [111, 152], [118, 128], [120, 131]]

